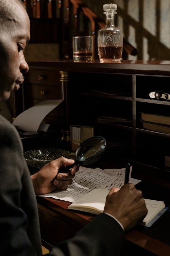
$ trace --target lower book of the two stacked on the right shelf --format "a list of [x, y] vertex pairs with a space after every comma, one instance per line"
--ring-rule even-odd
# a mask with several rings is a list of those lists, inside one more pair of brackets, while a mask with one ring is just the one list
[[152, 122], [144, 122], [142, 120], [141, 122], [142, 122], [143, 128], [145, 129], [170, 134], [170, 125], [161, 125], [161, 124], [156, 124]]

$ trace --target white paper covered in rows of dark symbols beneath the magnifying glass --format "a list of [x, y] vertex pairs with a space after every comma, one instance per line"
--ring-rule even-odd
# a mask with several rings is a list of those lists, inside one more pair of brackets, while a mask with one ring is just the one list
[[[120, 188], [124, 185], [124, 175], [125, 168], [102, 170], [100, 168], [90, 169], [80, 166], [79, 171], [75, 174], [73, 183], [66, 190], [57, 190], [39, 196], [75, 202], [92, 189], [107, 189], [109, 191], [113, 186], [116, 186], [114, 184], [116, 184], [117, 180], [117, 187]], [[137, 184], [140, 181], [131, 178], [130, 182]]]

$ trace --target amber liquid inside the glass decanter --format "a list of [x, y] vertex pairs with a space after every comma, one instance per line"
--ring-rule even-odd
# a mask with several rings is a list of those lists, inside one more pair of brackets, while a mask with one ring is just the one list
[[98, 53], [101, 62], [118, 61], [122, 58], [123, 46], [99, 46]]

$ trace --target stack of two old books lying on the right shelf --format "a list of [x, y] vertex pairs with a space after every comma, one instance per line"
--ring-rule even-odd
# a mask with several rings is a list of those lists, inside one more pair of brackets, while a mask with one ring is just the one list
[[170, 134], [170, 116], [141, 113], [143, 128]]

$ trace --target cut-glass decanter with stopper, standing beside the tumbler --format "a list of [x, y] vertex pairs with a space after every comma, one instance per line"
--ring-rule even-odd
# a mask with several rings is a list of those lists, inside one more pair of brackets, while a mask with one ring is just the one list
[[114, 25], [117, 4], [104, 4], [103, 10], [106, 15], [106, 26], [98, 31], [99, 59], [100, 62], [120, 61], [123, 50], [123, 34]]

